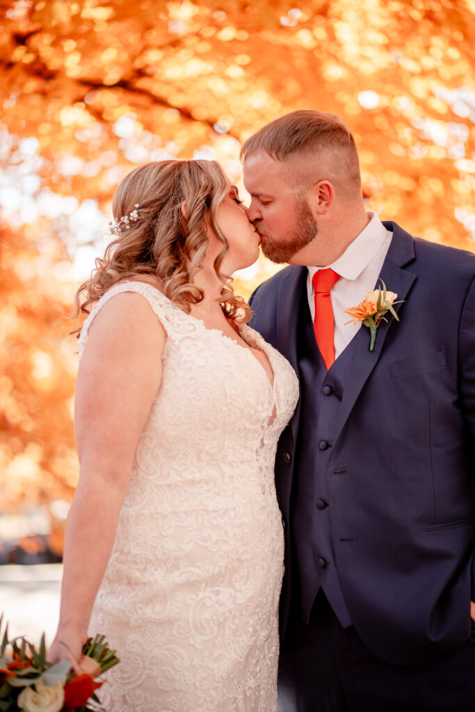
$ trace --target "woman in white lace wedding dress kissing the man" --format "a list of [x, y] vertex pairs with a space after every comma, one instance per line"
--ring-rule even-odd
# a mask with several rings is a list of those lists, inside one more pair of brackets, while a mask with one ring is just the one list
[[135, 169], [113, 213], [76, 296], [80, 480], [48, 658], [77, 666], [90, 628], [121, 658], [111, 712], [277, 711], [273, 464], [298, 383], [231, 288], [259, 234], [214, 161]]

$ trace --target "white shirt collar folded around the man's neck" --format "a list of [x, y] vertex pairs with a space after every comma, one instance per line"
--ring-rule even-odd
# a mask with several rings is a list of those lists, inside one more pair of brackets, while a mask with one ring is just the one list
[[[344, 279], [357, 279], [369, 265], [387, 238], [387, 229], [376, 213], [368, 213], [370, 221], [360, 234], [350, 242], [343, 255], [328, 265]], [[310, 280], [323, 267], [308, 267]]]

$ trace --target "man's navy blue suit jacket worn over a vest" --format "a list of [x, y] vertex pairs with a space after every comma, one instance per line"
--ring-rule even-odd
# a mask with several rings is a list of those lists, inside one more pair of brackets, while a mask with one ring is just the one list
[[[380, 278], [400, 321], [355, 336], [328, 464], [338, 575], [353, 624], [381, 659], [443, 654], [470, 634], [475, 551], [475, 256], [397, 224]], [[251, 297], [251, 325], [291, 362], [305, 267]], [[368, 289], [374, 285], [368, 285]], [[363, 297], [364, 295], [362, 295]], [[348, 305], [353, 306], [353, 305]], [[281, 635], [291, 605], [292, 481], [299, 405], [283, 431], [276, 488], [286, 524]], [[309, 533], [310, 535], [310, 533]]]

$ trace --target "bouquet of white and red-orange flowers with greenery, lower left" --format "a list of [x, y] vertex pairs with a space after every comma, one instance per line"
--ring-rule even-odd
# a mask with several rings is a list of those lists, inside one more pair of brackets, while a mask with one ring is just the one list
[[104, 636], [96, 635], [85, 642], [84, 672], [76, 675], [66, 660], [48, 663], [44, 634], [37, 650], [25, 638], [9, 641], [6, 627], [0, 645], [0, 712], [92, 712], [88, 701], [99, 702], [95, 690], [102, 685], [95, 677], [118, 662]]

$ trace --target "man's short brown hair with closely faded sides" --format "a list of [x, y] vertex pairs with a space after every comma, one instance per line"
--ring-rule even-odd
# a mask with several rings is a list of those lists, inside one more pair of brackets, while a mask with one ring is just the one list
[[241, 160], [264, 152], [277, 161], [325, 155], [340, 177], [361, 190], [355, 139], [338, 116], [310, 109], [292, 111], [263, 126], [241, 148]]

